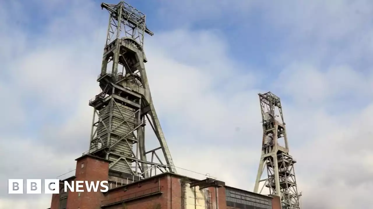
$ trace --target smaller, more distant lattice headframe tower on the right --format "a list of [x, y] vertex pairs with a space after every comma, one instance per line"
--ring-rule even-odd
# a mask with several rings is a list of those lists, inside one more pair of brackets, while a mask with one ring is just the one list
[[[259, 183], [265, 181], [264, 185], [269, 188], [270, 194], [281, 198], [282, 209], [300, 209], [300, 194], [298, 194], [294, 173], [296, 161], [289, 155], [280, 98], [267, 92], [259, 94], [259, 99], [263, 142], [254, 192], [258, 193]], [[276, 120], [275, 112], [279, 112], [281, 121]], [[280, 142], [284, 142], [284, 146], [279, 145]], [[264, 170], [267, 171], [267, 177], [261, 179]]]

